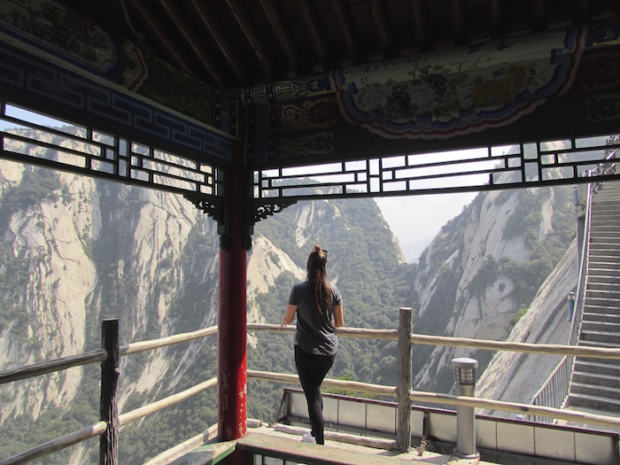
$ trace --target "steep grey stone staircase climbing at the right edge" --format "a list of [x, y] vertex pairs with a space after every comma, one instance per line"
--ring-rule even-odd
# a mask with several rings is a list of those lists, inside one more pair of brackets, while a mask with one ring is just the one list
[[[577, 345], [620, 348], [620, 182], [593, 194], [584, 313]], [[577, 357], [567, 404], [620, 414], [620, 360]]]

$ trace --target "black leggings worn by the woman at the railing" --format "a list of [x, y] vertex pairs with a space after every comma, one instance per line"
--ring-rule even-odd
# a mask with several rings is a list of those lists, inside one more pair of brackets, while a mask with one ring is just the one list
[[336, 355], [313, 355], [295, 345], [295, 365], [297, 366], [299, 382], [306, 394], [308, 415], [316, 444], [325, 444], [321, 384], [329, 368], [334, 364], [335, 358]]

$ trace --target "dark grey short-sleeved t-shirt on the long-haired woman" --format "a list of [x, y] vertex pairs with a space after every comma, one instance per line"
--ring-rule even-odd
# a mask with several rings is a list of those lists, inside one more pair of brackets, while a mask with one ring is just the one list
[[315, 355], [334, 355], [338, 349], [336, 329], [331, 322], [334, 306], [342, 305], [342, 295], [332, 284], [332, 306], [327, 314], [319, 314], [314, 308], [312, 292], [307, 281], [295, 284], [289, 304], [297, 306], [297, 330], [294, 344], [305, 352]]

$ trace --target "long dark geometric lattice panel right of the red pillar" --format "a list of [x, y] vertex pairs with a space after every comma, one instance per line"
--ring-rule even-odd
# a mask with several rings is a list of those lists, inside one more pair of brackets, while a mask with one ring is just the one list
[[519, 143], [254, 171], [255, 204], [276, 199], [389, 197], [616, 178], [615, 136]]

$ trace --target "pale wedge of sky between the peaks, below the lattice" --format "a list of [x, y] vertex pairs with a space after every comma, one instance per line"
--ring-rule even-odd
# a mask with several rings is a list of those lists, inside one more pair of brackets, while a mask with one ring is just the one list
[[375, 198], [377, 205], [399, 239], [407, 261], [417, 261], [424, 247], [437, 235], [439, 229], [462, 212], [463, 206], [477, 196], [477, 192], [433, 194], [426, 196]]

